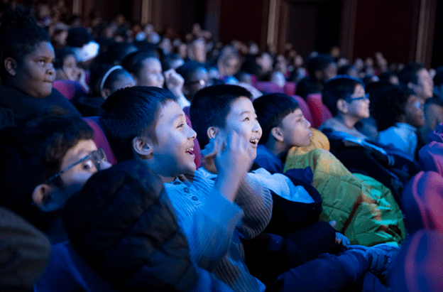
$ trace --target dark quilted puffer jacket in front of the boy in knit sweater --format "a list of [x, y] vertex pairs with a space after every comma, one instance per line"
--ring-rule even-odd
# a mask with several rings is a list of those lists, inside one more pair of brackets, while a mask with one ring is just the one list
[[163, 184], [143, 163], [96, 173], [67, 201], [63, 224], [87, 264], [120, 291], [195, 288], [186, 236]]

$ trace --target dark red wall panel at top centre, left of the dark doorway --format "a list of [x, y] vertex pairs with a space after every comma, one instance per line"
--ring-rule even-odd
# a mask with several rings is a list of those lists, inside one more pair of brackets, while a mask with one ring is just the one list
[[[253, 40], [261, 43], [266, 23], [267, 0], [222, 0], [220, 5], [219, 40]], [[265, 16], [265, 17], [264, 17]], [[265, 24], [267, 26], [267, 23]]]

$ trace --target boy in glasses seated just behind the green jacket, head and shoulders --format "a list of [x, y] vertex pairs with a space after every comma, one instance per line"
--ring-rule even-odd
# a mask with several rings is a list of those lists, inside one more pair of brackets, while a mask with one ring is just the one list
[[357, 122], [369, 117], [369, 95], [362, 80], [338, 75], [326, 82], [322, 94], [323, 103], [334, 117], [319, 126], [320, 131], [340, 131], [358, 139], [368, 138], [355, 128]]

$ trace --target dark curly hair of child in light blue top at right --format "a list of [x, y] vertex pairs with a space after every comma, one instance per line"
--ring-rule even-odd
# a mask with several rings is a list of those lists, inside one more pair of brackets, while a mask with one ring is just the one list
[[378, 131], [384, 131], [401, 121], [406, 114], [406, 104], [410, 90], [405, 85], [386, 85], [380, 92], [373, 107], [373, 118], [377, 121]]

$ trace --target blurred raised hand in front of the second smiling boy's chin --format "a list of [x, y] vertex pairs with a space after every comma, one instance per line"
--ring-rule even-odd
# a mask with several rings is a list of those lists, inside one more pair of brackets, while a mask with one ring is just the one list
[[202, 150], [204, 158], [214, 158], [218, 178], [215, 188], [228, 200], [234, 201], [241, 180], [251, 169], [256, 149], [236, 131], [221, 132]]

